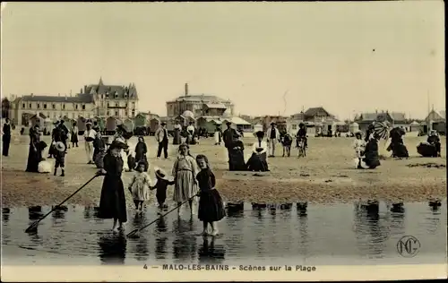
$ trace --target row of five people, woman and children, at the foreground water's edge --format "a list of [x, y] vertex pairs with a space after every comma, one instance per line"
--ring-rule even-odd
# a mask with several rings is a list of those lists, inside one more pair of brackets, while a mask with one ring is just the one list
[[[125, 189], [122, 181], [124, 161], [122, 150], [127, 150], [126, 142], [116, 139], [108, 148], [104, 157], [104, 167], [97, 173], [105, 176], [99, 201], [99, 218], [113, 219], [113, 229], [123, 230], [127, 221]], [[211, 172], [207, 157], [198, 155], [194, 159], [189, 146], [182, 143], [178, 149], [177, 159], [172, 169], [173, 181], [169, 181], [167, 174], [161, 168], [155, 168], [156, 184], [152, 185], [151, 178], [146, 173], [148, 162], [144, 159], [137, 161], [137, 171], [134, 174], [128, 190], [133, 195], [135, 209], [142, 211], [143, 202], [149, 200], [152, 190], [156, 190], [159, 203], [159, 214], [166, 208], [168, 185], [174, 185], [173, 200], [177, 203], [177, 215], [181, 215], [181, 207], [188, 202], [190, 216], [194, 215], [195, 198], [199, 197], [198, 218], [203, 222], [203, 235], [208, 234], [211, 226], [211, 236], [218, 234], [217, 221], [226, 216], [220, 193], [215, 188], [216, 179]]]

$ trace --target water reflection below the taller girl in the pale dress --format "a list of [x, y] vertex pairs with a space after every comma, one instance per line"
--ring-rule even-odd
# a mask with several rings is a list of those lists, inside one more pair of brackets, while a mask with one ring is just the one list
[[176, 219], [173, 230], [176, 233], [173, 241], [173, 257], [182, 262], [194, 261], [196, 257], [196, 235], [194, 235], [194, 220]]

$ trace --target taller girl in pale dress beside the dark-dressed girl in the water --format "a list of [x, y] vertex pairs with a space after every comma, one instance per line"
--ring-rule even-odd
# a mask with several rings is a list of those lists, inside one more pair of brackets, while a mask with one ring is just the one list
[[[198, 192], [196, 175], [198, 168], [196, 160], [190, 155], [189, 147], [183, 143], [179, 146], [179, 154], [173, 166], [175, 180], [173, 199], [180, 205], [181, 202], [190, 200], [190, 214], [194, 214], [193, 197]], [[177, 214], [180, 215], [180, 207]]]

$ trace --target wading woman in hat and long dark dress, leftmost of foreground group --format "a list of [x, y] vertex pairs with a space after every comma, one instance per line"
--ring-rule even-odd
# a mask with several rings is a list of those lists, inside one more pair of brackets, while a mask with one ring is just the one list
[[112, 229], [119, 231], [124, 229], [123, 223], [127, 221], [125, 187], [121, 179], [124, 165], [121, 150], [125, 148], [123, 142], [112, 142], [104, 157], [104, 167], [97, 173], [104, 176], [99, 200], [99, 218], [114, 219]]

